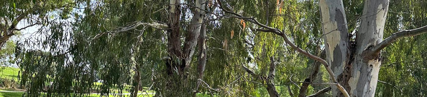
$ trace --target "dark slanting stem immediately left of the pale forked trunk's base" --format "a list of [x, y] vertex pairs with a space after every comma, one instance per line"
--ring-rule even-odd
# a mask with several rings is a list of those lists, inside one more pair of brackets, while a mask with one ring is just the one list
[[[320, 53], [319, 57], [322, 59], [325, 59], [326, 58], [325, 53], [326, 53], [326, 51], [322, 50], [322, 53]], [[307, 83], [302, 83], [301, 89], [299, 89], [298, 97], [306, 97], [305, 95], [307, 94], [307, 88], [310, 85], [310, 83], [312, 83], [313, 80], [317, 78], [317, 75], [319, 74], [321, 65], [322, 65], [322, 63], [320, 63], [319, 61], [314, 62], [313, 70], [311, 71], [311, 74], [308, 75], [308, 77], [305, 78], [305, 80], [304, 80], [304, 82], [307, 82]]]

